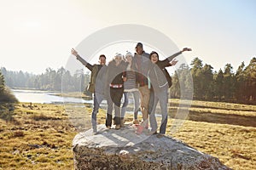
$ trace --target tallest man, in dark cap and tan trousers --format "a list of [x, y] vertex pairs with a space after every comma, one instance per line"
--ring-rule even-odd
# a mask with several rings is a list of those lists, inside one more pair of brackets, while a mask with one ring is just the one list
[[142, 126], [148, 128], [148, 101], [150, 90], [148, 89], [148, 61], [149, 54], [143, 50], [143, 43], [138, 42], [136, 46], [136, 54], [134, 55], [134, 62], [137, 68], [137, 83], [141, 99], [141, 111], [143, 112]]

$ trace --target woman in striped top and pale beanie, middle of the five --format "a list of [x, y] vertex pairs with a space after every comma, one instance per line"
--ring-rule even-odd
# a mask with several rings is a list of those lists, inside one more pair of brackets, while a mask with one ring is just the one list
[[122, 105], [121, 109], [121, 127], [124, 127], [125, 123], [125, 111], [126, 107], [129, 104], [129, 94], [132, 94], [133, 96], [133, 102], [134, 102], [134, 119], [133, 119], [133, 124], [139, 124], [139, 121], [137, 120], [137, 113], [139, 111], [139, 91], [137, 88], [137, 83], [136, 83], [136, 73], [137, 69], [135, 66], [135, 63], [133, 61], [133, 55], [131, 52], [127, 52], [125, 54], [125, 60], [126, 60], [126, 82], [124, 82], [124, 103]]

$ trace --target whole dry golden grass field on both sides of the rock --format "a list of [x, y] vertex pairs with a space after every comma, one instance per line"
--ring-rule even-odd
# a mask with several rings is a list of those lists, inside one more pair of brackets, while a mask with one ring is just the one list
[[[83, 106], [20, 103], [9, 111], [2, 105], [0, 169], [73, 169], [73, 137], [90, 127], [91, 107]], [[170, 101], [171, 117], [178, 106], [179, 100]], [[104, 123], [105, 111], [97, 117], [98, 123]], [[193, 101], [186, 120], [170, 118], [166, 133], [218, 157], [228, 167], [253, 169], [255, 117], [255, 105]], [[126, 121], [132, 121], [131, 114]], [[173, 128], [175, 133], [171, 133]]]

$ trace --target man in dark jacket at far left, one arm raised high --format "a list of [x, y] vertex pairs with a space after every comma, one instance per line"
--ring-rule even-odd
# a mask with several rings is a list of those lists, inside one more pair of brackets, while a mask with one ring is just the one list
[[93, 133], [97, 133], [96, 128], [96, 114], [99, 111], [102, 100], [105, 99], [106, 89], [106, 56], [100, 55], [99, 57], [99, 65], [90, 65], [87, 61], [85, 61], [82, 57], [79, 56], [78, 52], [75, 49], [71, 50], [71, 53], [77, 57], [77, 59], [91, 71], [90, 75], [90, 84], [88, 90], [93, 93], [93, 111], [91, 113], [91, 125]]

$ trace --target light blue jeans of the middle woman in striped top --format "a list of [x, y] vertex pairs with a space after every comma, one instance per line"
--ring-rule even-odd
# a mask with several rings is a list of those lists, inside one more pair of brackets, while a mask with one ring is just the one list
[[121, 119], [123, 119], [125, 117], [125, 111], [126, 111], [126, 107], [127, 105], [129, 104], [129, 93], [132, 94], [133, 96], [133, 101], [134, 101], [134, 110], [133, 110], [133, 113], [134, 113], [134, 119], [137, 119], [137, 112], [139, 111], [139, 107], [140, 107], [140, 104], [139, 104], [139, 99], [140, 99], [140, 94], [139, 94], [139, 91], [134, 91], [134, 92], [125, 92], [124, 93], [124, 96], [125, 96], [125, 101], [122, 105], [122, 109], [121, 109]]

